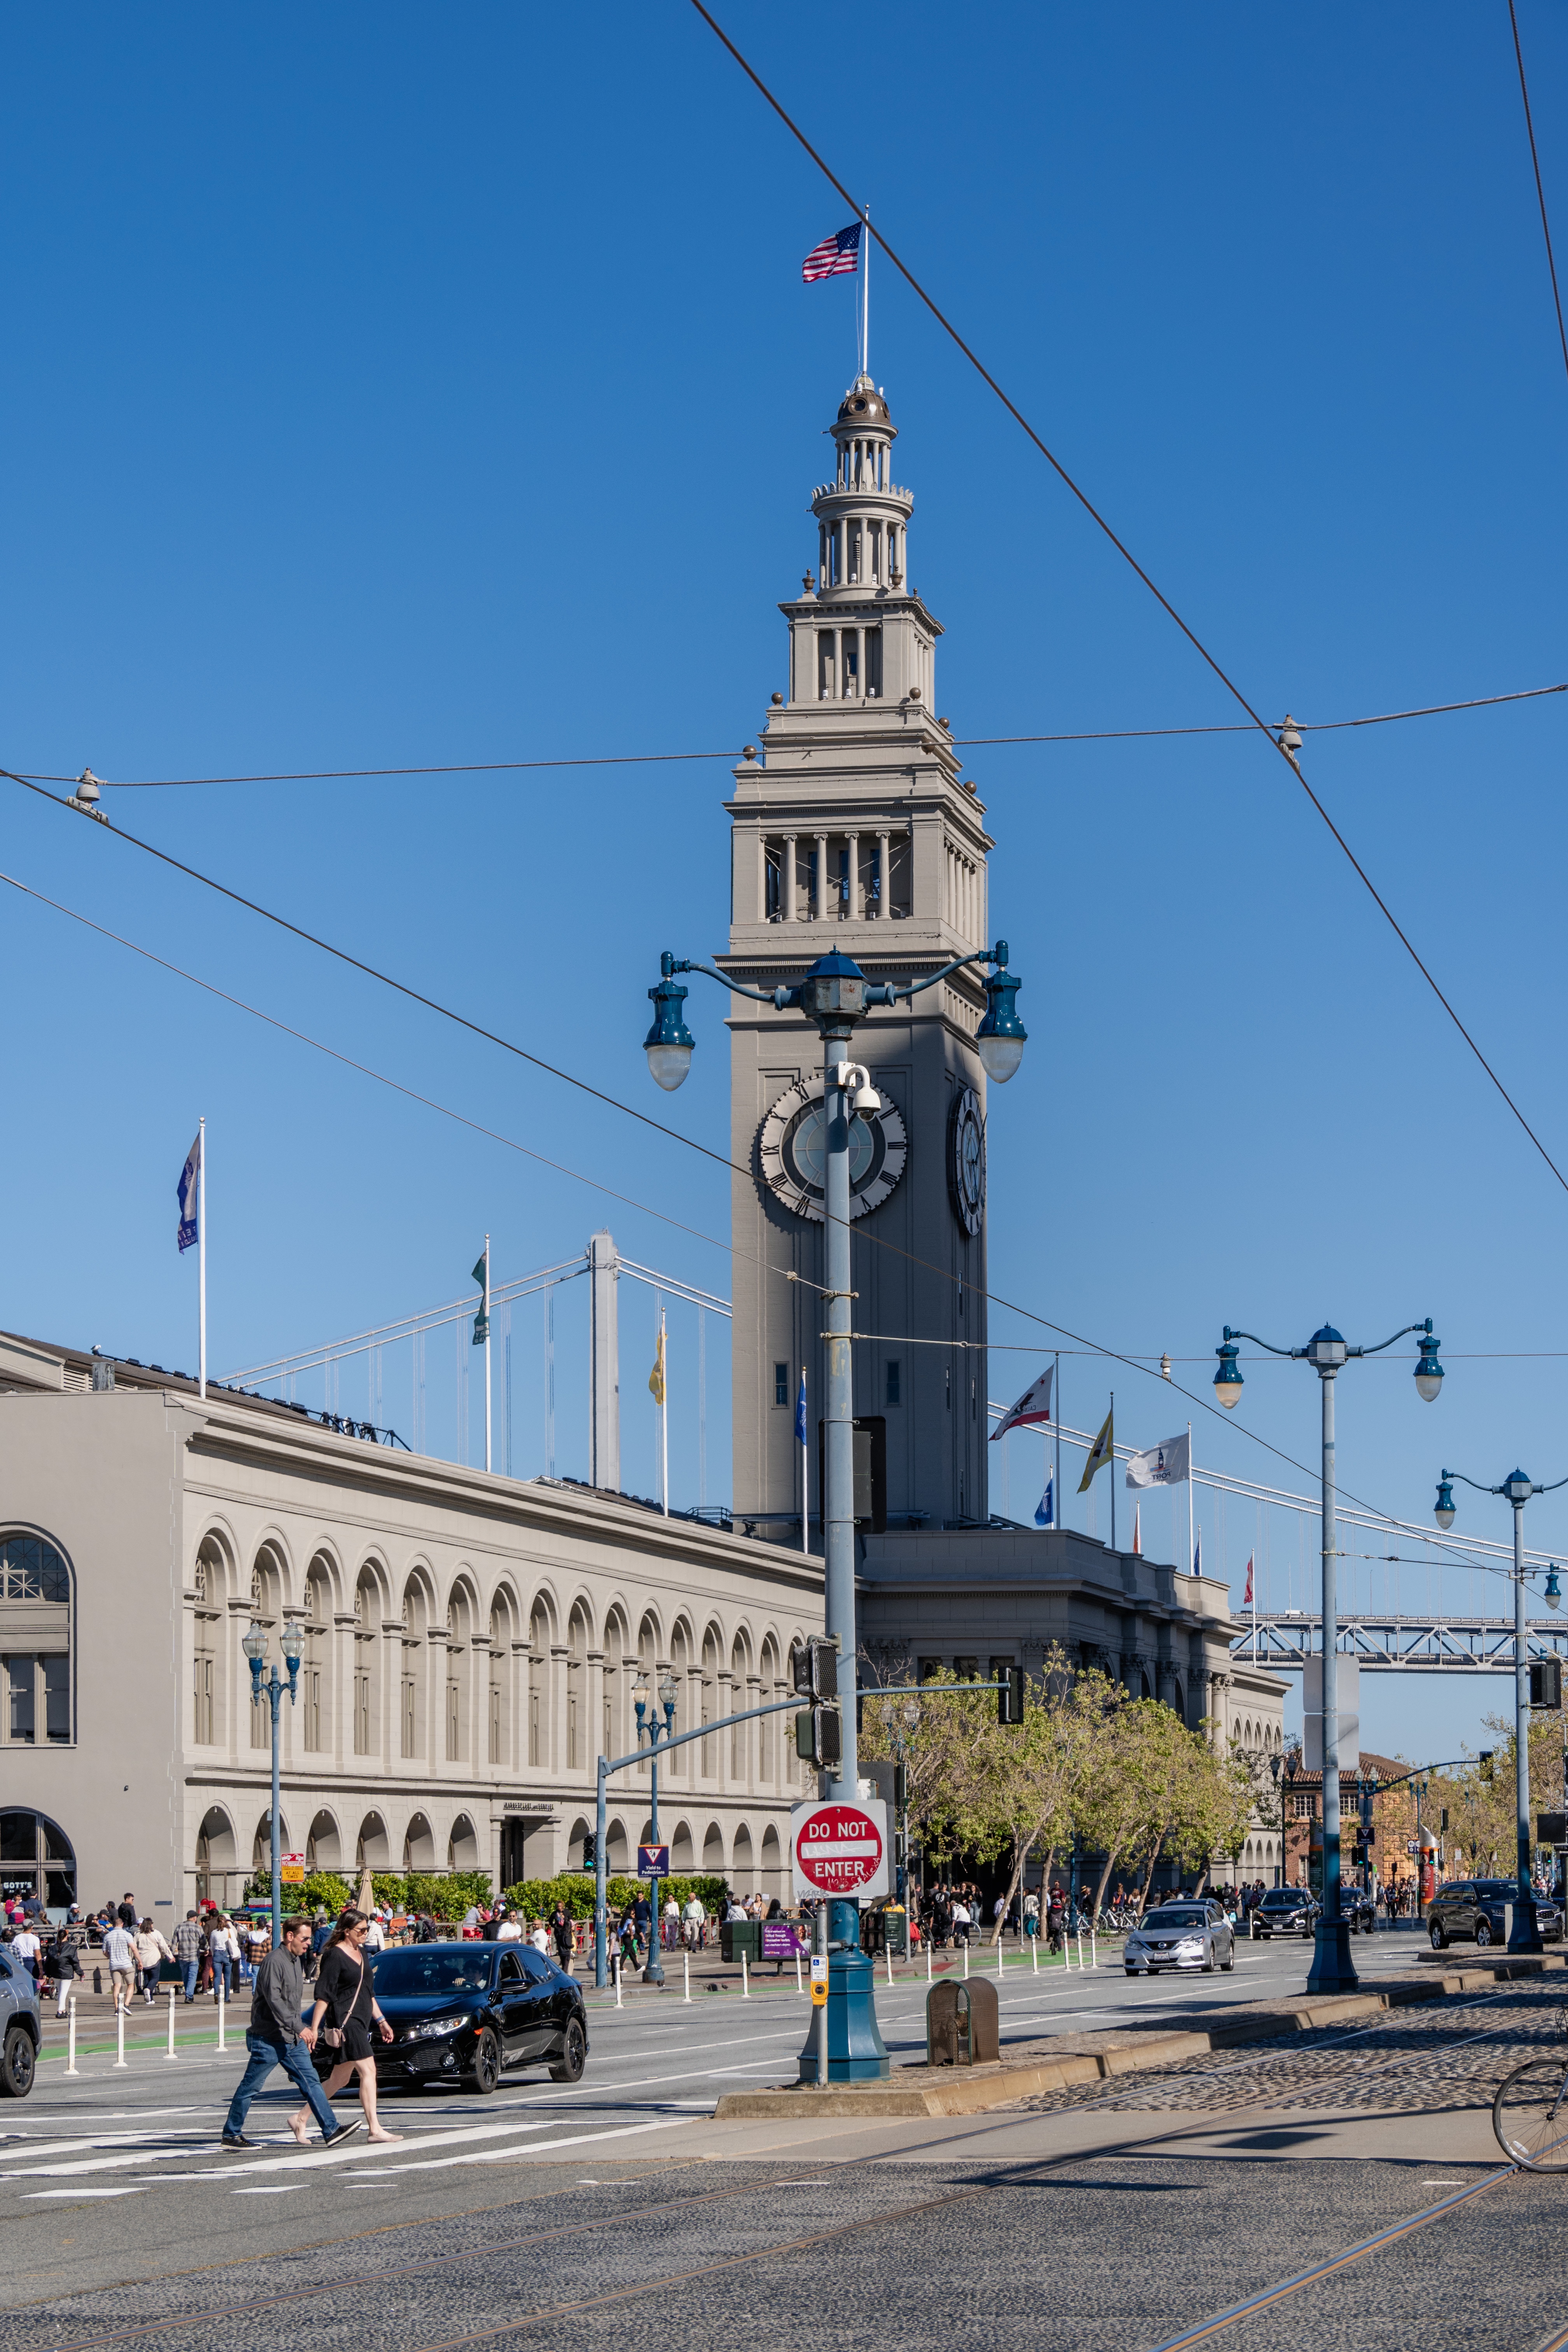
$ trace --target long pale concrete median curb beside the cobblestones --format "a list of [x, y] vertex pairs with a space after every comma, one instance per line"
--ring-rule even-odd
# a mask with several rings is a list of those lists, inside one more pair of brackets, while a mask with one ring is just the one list
[[[1495, 1959], [1443, 1976], [1413, 1976], [1378, 1992], [1335, 1992], [1319, 2002], [1281, 2004], [1197, 2032], [1128, 2034], [1093, 2053], [1063, 2053], [1027, 2065], [994, 2060], [964, 2067], [957, 2074], [950, 2067], [900, 2065], [886, 2082], [844, 2084], [837, 2091], [818, 2091], [816, 2084], [790, 2084], [778, 2091], [726, 2091], [712, 2112], [719, 2124], [769, 2122], [785, 2114], [860, 2117], [863, 2122], [978, 2114], [985, 2107], [1006, 2107], [1016, 2098], [1034, 2098], [1039, 2091], [1067, 2091], [1114, 2074], [1138, 2074], [1145, 2067], [1173, 2065], [1178, 2058], [1234, 2049], [1241, 2042], [1314, 2032], [1321, 2025], [1375, 2018], [1387, 2009], [1413, 2009], [1418, 2002], [1441, 2002], [1509, 1978], [1547, 1976], [1561, 1969], [1568, 1969], [1568, 1955]], [[940, 2086], [933, 2082], [933, 2072], [943, 2077]]]

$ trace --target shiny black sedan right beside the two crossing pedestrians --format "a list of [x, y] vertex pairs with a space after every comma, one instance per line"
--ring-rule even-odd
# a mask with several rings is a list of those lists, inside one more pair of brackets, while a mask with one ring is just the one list
[[376, 2077], [411, 2091], [461, 2082], [494, 2091], [508, 2065], [581, 2082], [583, 1987], [531, 1943], [414, 1943], [376, 1955], [376, 2002], [393, 2027]]

